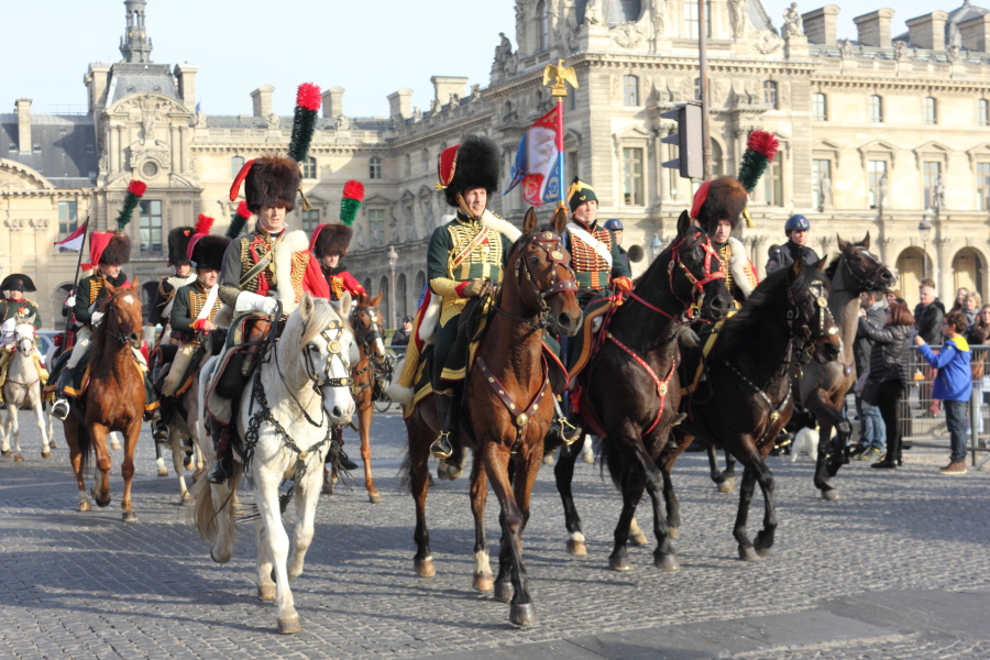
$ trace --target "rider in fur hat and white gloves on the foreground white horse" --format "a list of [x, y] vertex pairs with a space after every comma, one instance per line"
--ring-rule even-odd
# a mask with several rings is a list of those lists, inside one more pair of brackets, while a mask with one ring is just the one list
[[[285, 222], [286, 213], [296, 207], [296, 194], [301, 182], [302, 175], [296, 161], [279, 154], [267, 154], [245, 163], [231, 186], [230, 200], [234, 201], [241, 184], [244, 184], [248, 210], [257, 216], [257, 222], [250, 232], [231, 241], [220, 268], [220, 300], [233, 309], [235, 317], [246, 312], [272, 316], [279, 300], [283, 304], [282, 314], [288, 315], [304, 293], [318, 298], [330, 297], [327, 279], [317, 260], [311, 258], [306, 233], [301, 230], [289, 231]], [[250, 334], [245, 332], [244, 339], [248, 340]], [[228, 350], [221, 356], [224, 367], [234, 350], [245, 349], [233, 346]], [[211, 382], [218, 383], [221, 375], [217, 374]], [[246, 384], [250, 372], [245, 375], [242, 371], [241, 375]], [[219, 484], [227, 481], [233, 468], [228, 432], [233, 408], [219, 405], [219, 400], [217, 405], [211, 405], [215, 399], [223, 399], [216, 389], [210, 393], [207, 403], [210, 435], [217, 451], [217, 464], [209, 480]], [[232, 403], [227, 400], [227, 404]]]

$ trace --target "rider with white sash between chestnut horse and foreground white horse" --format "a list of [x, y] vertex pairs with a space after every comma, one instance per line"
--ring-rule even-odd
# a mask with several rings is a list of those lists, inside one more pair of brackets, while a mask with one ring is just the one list
[[[206, 353], [202, 339], [210, 331], [216, 330], [213, 317], [220, 311], [222, 302], [218, 295], [217, 278], [220, 276], [220, 265], [223, 261], [223, 252], [230, 244], [227, 237], [210, 235], [210, 226], [213, 219], [199, 217], [196, 233], [186, 237], [186, 253], [182, 258], [189, 264], [196, 264], [196, 279], [178, 288], [174, 295], [169, 295], [170, 316], [167, 320], [170, 329], [170, 341], [179, 345], [165, 384], [162, 387], [162, 419], [155, 429], [156, 436], [168, 436], [168, 422], [172, 411], [175, 409], [176, 393], [186, 384], [187, 372], [190, 364], [198, 364]], [[206, 222], [208, 221], [208, 222]], [[163, 279], [164, 283], [164, 279]], [[161, 293], [161, 287], [158, 292]], [[188, 374], [188, 375], [191, 375]]]

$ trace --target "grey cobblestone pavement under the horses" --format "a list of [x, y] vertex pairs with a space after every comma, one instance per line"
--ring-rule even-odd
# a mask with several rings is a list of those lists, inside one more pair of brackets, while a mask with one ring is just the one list
[[[140, 521], [124, 525], [122, 452], [111, 452], [111, 506], [81, 514], [62, 430], [44, 461], [36, 428], [22, 429], [25, 461], [0, 459], [0, 657], [990, 657], [986, 472], [944, 477], [913, 464], [877, 474], [855, 463], [835, 482], [843, 498], [826, 503], [812, 486], [809, 459], [771, 459], [777, 546], [770, 558], [743, 563], [732, 537], [738, 496], [717, 493], [703, 455], [685, 454], [674, 473], [681, 571], [653, 569], [647, 547], [630, 549], [634, 571], [615, 573], [607, 570], [620, 508], [613, 486], [597, 466], [579, 462], [588, 557], [571, 558], [552, 470], [544, 468], [524, 537], [540, 624], [519, 630], [506, 605], [471, 588], [466, 479], [431, 488], [437, 576], [413, 573], [413, 501], [397, 477], [405, 431], [398, 417], [376, 417], [373, 465], [385, 499], [369, 503], [360, 485], [321, 497], [306, 570], [293, 582], [304, 631], [278, 636], [274, 605], [257, 601], [252, 584], [253, 534], [241, 535], [230, 563], [210, 561], [175, 479], [155, 476], [146, 432], [133, 488]], [[353, 458], [356, 437], [346, 439]], [[761, 519], [759, 496], [755, 504], [751, 534]], [[642, 507], [638, 517], [648, 530]], [[497, 521], [490, 497], [490, 541]], [[881, 596], [880, 605], [870, 601]], [[901, 606], [932, 598], [941, 604]], [[943, 620], [957, 610], [952, 620]], [[698, 640], [707, 641], [691, 646]]]

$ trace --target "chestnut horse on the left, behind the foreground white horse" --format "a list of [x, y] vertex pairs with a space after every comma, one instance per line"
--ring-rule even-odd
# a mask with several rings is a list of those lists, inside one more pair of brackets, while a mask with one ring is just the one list
[[[100, 470], [99, 484], [92, 485], [98, 506], [110, 504], [110, 452], [107, 435], [120, 431], [124, 437], [124, 460], [120, 472], [124, 480], [123, 521], [136, 522], [131, 507], [131, 480], [134, 476], [134, 449], [141, 435], [144, 417], [144, 378], [134, 363], [134, 350], [144, 336], [141, 298], [135, 277], [130, 286], [114, 289], [109, 284], [110, 298], [103, 304], [103, 320], [92, 331], [89, 356], [89, 385], [74, 399], [69, 416], [63, 422], [69, 459], [79, 486], [79, 510], [92, 508], [86, 493], [82, 471], [95, 452]], [[80, 407], [81, 404], [81, 407]]]

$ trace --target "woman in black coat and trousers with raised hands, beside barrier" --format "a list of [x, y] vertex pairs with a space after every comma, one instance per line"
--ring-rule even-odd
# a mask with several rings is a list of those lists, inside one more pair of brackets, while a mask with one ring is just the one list
[[875, 328], [866, 310], [860, 311], [859, 332], [873, 346], [870, 352], [870, 375], [862, 388], [862, 400], [880, 409], [887, 430], [887, 454], [871, 466], [892, 470], [901, 464], [901, 428], [898, 409], [911, 377], [908, 374], [908, 351], [911, 345], [914, 319], [905, 305], [891, 305], [883, 328]]

